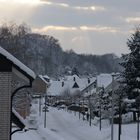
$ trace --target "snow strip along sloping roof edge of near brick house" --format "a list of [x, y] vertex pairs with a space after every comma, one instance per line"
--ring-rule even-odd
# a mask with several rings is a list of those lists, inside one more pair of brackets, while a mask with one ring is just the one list
[[25, 66], [22, 62], [20, 62], [17, 58], [15, 58], [13, 55], [11, 55], [8, 51], [3, 49], [2, 47], [0, 47], [0, 54], [5, 56], [14, 65], [18, 66], [21, 70], [23, 70], [25, 73], [27, 73], [29, 76], [35, 79], [36, 75], [30, 68]]

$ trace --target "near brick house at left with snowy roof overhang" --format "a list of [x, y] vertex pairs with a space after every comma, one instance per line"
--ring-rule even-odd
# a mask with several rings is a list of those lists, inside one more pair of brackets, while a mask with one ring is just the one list
[[[15, 76], [23, 82], [13, 82]], [[13, 98], [18, 91], [31, 88], [35, 77], [31, 69], [0, 47], [0, 140], [10, 140]]]

